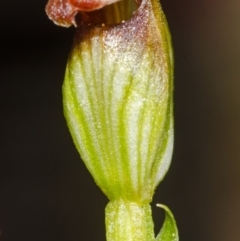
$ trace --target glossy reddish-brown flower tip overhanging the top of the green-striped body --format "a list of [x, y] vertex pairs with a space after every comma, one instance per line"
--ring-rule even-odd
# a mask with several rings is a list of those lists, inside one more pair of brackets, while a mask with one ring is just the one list
[[90, 12], [119, 0], [49, 0], [46, 6], [48, 17], [57, 25], [76, 26], [78, 12]]

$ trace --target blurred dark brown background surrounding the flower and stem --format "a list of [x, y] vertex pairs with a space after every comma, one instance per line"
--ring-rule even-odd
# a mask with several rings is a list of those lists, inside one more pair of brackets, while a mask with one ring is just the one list
[[[46, 0], [0, 3], [0, 240], [103, 241], [107, 199], [62, 114], [74, 28]], [[175, 150], [152, 203], [186, 241], [240, 240], [240, 1], [162, 0], [175, 52]]]

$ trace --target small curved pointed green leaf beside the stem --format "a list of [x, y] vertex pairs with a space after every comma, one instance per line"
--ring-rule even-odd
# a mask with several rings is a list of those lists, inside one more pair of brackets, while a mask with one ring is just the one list
[[177, 225], [172, 212], [165, 205], [157, 204], [157, 207], [165, 210], [165, 220], [156, 241], [178, 241]]

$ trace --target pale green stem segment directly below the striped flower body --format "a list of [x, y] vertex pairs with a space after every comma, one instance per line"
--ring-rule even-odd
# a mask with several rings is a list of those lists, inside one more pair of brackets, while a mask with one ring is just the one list
[[149, 204], [115, 200], [106, 207], [107, 241], [153, 241], [152, 211]]

